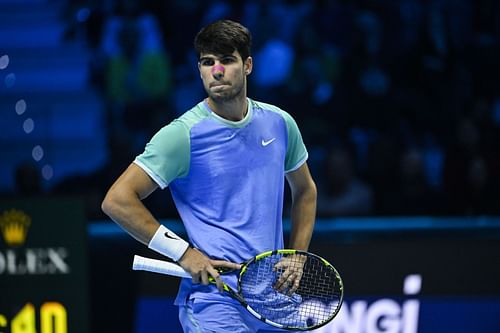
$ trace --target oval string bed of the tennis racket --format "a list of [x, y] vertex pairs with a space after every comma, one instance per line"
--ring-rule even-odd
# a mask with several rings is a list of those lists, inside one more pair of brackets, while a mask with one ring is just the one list
[[[279, 292], [274, 285], [290, 271], [300, 272], [301, 278], [299, 288], [287, 295], [289, 289]], [[335, 270], [315, 256], [277, 253], [247, 266], [240, 277], [240, 292], [263, 318], [286, 327], [308, 328], [321, 325], [337, 312], [339, 283]]]

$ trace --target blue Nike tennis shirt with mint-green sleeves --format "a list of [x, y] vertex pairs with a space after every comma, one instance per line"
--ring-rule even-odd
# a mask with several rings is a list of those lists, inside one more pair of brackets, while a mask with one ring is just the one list
[[[198, 103], [156, 133], [134, 163], [170, 188], [193, 247], [242, 262], [283, 248], [284, 176], [307, 156], [288, 113], [248, 99], [245, 118], [236, 122]], [[176, 303], [214, 289], [183, 279]]]

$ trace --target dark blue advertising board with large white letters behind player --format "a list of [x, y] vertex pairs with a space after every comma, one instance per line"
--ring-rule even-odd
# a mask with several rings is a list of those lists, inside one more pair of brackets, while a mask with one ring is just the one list
[[[354, 235], [364, 223], [356, 222], [350, 234], [319, 225], [311, 243], [312, 252], [339, 270], [345, 287], [338, 316], [314, 332], [500, 332], [500, 229], [483, 229], [483, 222], [466, 228], [466, 220], [458, 221], [460, 228], [445, 229], [448, 221], [442, 219], [425, 231], [365, 225], [369, 231]], [[137, 302], [135, 333], [165, 327], [182, 332], [173, 305], [178, 279], [140, 277], [143, 297]]]

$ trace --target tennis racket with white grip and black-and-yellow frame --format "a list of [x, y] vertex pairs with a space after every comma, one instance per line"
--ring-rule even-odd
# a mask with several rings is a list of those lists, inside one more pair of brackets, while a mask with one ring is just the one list
[[[177, 264], [137, 255], [133, 269], [191, 278]], [[210, 282], [215, 280], [210, 278]], [[330, 322], [340, 310], [344, 291], [339, 273], [328, 261], [298, 250], [268, 251], [245, 261], [238, 273], [237, 291], [225, 283], [223, 288], [258, 319], [300, 331]]]

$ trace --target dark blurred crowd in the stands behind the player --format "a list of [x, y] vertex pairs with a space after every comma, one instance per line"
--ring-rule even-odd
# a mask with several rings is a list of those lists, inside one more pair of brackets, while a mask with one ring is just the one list
[[[92, 51], [111, 151], [89, 176], [91, 218], [151, 135], [204, 98], [192, 40], [219, 18], [252, 31], [249, 96], [297, 120], [320, 217], [500, 213], [499, 1], [80, 0], [67, 38]], [[148, 205], [176, 217], [157, 192]]]

